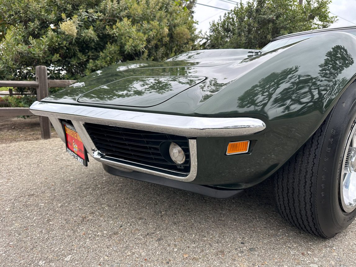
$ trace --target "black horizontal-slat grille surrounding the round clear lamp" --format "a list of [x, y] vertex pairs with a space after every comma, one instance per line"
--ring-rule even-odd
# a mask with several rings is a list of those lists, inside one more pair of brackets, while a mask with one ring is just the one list
[[[84, 127], [95, 147], [105, 156], [171, 171], [188, 173], [190, 170], [187, 137], [91, 123], [85, 123]], [[167, 145], [163, 146], [170, 142], [177, 143], [183, 149], [183, 164], [177, 165], [170, 160]], [[164, 156], [160, 152], [160, 146]]]

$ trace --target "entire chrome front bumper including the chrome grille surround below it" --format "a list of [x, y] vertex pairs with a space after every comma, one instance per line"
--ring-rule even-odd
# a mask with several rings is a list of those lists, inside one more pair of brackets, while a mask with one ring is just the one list
[[[36, 101], [30, 107], [35, 115], [47, 116], [59, 137], [65, 136], [59, 119], [71, 120], [78, 131], [90, 156], [97, 161], [116, 168], [148, 173], [184, 182], [191, 182], [197, 176], [197, 145], [195, 137], [245, 136], [263, 131], [263, 121], [253, 118], [205, 118], [156, 114], [147, 112], [96, 108], [67, 104], [43, 103]], [[85, 130], [84, 122], [120, 126], [125, 128], [162, 132], [189, 138], [190, 172], [188, 174], [167, 171], [157, 167], [107, 157], [100, 153]]]

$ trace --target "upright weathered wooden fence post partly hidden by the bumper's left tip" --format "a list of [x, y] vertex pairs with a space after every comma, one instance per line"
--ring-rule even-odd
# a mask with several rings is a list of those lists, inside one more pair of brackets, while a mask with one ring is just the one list
[[[47, 80], [47, 67], [36, 66], [36, 81], [38, 82], [37, 100], [48, 96], [48, 80]], [[42, 139], [51, 138], [51, 122], [48, 117], [40, 116], [41, 137]]]

